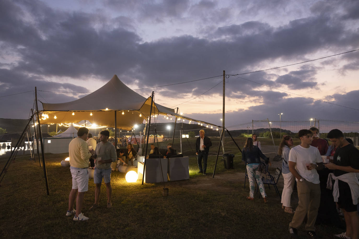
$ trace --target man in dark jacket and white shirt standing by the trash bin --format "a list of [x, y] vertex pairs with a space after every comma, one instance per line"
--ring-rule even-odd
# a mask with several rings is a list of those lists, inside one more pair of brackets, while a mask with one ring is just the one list
[[[208, 158], [208, 152], [209, 147], [212, 146], [211, 139], [204, 136], [204, 130], [200, 130], [200, 137], [196, 140], [196, 155], [197, 156], [197, 163], [198, 168], [200, 171], [198, 173], [203, 173], [203, 175], [206, 174], [207, 169], [207, 158]], [[203, 169], [202, 169], [202, 158], [203, 158]]]

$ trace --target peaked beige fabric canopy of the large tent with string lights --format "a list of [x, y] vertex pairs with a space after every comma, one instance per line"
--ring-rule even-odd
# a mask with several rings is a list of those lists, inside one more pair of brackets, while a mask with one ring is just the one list
[[[115, 112], [117, 111], [117, 128], [131, 130], [135, 124], [142, 124], [150, 115], [151, 97], [146, 99], [137, 94], [123, 84], [117, 75], [114, 75], [100, 89], [78, 100], [57, 104], [41, 103], [43, 112], [49, 116], [47, 119], [41, 120], [41, 124], [74, 123], [89, 120], [97, 125], [107, 125], [115, 128]], [[155, 102], [153, 102], [152, 106], [152, 115], [154, 114], [173, 115], [176, 118], [198, 121], [176, 114], [174, 109]], [[55, 116], [56, 119], [54, 118]], [[199, 122], [210, 124], [204, 121]]]

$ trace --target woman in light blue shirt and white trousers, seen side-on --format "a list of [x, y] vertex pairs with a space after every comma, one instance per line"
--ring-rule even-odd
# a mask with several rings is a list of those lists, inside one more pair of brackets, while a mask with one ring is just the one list
[[293, 139], [288, 135], [283, 135], [283, 138], [279, 144], [278, 154], [282, 156], [282, 175], [284, 179], [284, 186], [282, 192], [282, 209], [285, 212], [294, 214], [294, 210], [290, 206], [290, 197], [292, 196], [293, 186], [295, 182], [295, 177], [289, 171], [288, 159], [289, 159], [289, 150], [293, 146]]

